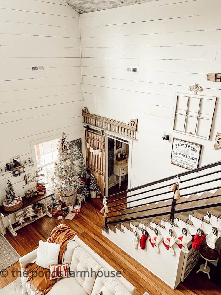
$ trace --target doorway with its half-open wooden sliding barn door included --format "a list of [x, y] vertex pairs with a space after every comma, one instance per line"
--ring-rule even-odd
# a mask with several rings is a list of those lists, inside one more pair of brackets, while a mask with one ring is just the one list
[[85, 130], [86, 166], [97, 182], [101, 196], [130, 189], [132, 141], [101, 130]]

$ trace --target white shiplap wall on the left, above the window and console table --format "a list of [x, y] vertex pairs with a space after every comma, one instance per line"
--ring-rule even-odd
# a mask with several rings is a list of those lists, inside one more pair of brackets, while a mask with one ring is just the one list
[[[45, 70], [32, 72], [37, 65]], [[34, 157], [32, 142], [64, 131], [69, 140], [83, 137], [77, 12], [60, 0], [0, 0], [0, 67], [0, 161], [20, 155], [24, 163]], [[0, 185], [10, 179], [23, 195], [23, 178], [7, 173]]]

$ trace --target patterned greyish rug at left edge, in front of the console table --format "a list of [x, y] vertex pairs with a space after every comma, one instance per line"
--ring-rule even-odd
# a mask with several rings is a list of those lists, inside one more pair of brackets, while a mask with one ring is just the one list
[[9, 244], [6, 238], [0, 234], [0, 270], [6, 269], [18, 262], [20, 255]]

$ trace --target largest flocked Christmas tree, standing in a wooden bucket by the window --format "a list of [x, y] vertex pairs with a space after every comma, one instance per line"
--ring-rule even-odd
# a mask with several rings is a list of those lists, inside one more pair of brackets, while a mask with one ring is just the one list
[[77, 146], [68, 149], [67, 136], [62, 133], [58, 141], [58, 156], [55, 165], [55, 183], [53, 188], [58, 191], [74, 191], [80, 186], [74, 159], [79, 155]]

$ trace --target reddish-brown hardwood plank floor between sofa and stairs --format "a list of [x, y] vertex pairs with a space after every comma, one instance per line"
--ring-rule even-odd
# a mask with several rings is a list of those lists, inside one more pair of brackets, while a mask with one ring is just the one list
[[[109, 194], [116, 192], [116, 189], [110, 189]], [[17, 237], [13, 237], [8, 230], [5, 237], [19, 255], [23, 256], [37, 248], [39, 239], [45, 241], [53, 227], [60, 223], [68, 224], [78, 233], [80, 239], [113, 268], [121, 271], [122, 275], [136, 286], [136, 295], [142, 295], [145, 291], [150, 295], [221, 294], [221, 288], [208, 280], [206, 274], [202, 272], [196, 273], [195, 271], [192, 271], [186, 280], [179, 284], [176, 290], [171, 289], [101, 234], [100, 227], [104, 223], [104, 218], [100, 214], [101, 208], [102, 199], [88, 199], [87, 203], [82, 205], [80, 214], [76, 215], [72, 221], [65, 218], [58, 221], [55, 217], [48, 218], [46, 216], [18, 230]], [[12, 269], [16, 268], [19, 268], [19, 262], [8, 268], [9, 276], [0, 278], [0, 289], [16, 279], [11, 274]]]

